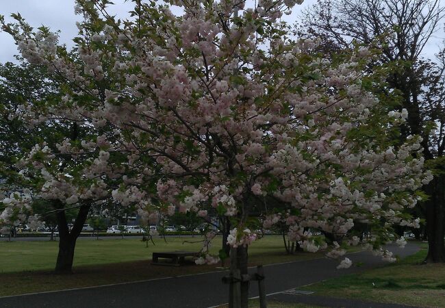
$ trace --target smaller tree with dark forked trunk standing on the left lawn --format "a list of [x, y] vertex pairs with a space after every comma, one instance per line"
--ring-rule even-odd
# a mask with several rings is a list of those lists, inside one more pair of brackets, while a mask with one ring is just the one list
[[[38, 216], [32, 216], [33, 221], [36, 217], [51, 220], [55, 216], [58, 224], [55, 271], [71, 272], [75, 243], [93, 203], [100, 205], [111, 197], [107, 186], [110, 182], [100, 177], [105, 172], [101, 170], [101, 159], [108, 159], [100, 150], [106, 146], [100, 137], [104, 129], [97, 133], [92, 123], [81, 124], [76, 118], [57, 114], [63, 103], [60, 89], [64, 88], [64, 79], [44, 66], [26, 62], [0, 64], [0, 77], [0, 177], [5, 180], [2, 190], [8, 191], [3, 203], [16, 204], [13, 210], [10, 207], [3, 211], [0, 224], [23, 221], [33, 214], [31, 205], [38, 202], [38, 212], [34, 213]], [[80, 148], [75, 155], [67, 149], [70, 142]], [[107, 142], [110, 144], [110, 140]], [[116, 159], [120, 164], [121, 159]], [[49, 188], [50, 183], [55, 186]], [[81, 192], [82, 197], [75, 192]], [[73, 211], [75, 219], [69, 229]]]

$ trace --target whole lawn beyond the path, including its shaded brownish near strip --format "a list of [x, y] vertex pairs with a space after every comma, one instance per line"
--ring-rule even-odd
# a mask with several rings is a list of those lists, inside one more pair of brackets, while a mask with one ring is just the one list
[[[73, 287], [140, 281], [218, 269], [218, 266], [153, 266], [153, 251], [198, 251], [201, 240], [195, 238], [155, 239], [155, 246], [136, 238], [124, 240], [78, 240], [72, 275], [55, 275], [52, 270], [58, 242], [0, 242], [0, 296], [64, 290]], [[184, 241], [195, 243], [184, 243]], [[213, 253], [220, 238], [214, 240]], [[281, 237], [268, 235], [249, 247], [249, 265], [272, 264], [322, 257], [320, 253], [286, 255]]]

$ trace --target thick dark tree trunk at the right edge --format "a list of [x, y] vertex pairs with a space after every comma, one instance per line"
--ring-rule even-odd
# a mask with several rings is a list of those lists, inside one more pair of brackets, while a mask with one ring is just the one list
[[445, 203], [445, 175], [437, 175], [425, 187], [429, 194], [427, 207], [427, 235], [428, 255], [425, 263], [444, 263], [444, 203]]

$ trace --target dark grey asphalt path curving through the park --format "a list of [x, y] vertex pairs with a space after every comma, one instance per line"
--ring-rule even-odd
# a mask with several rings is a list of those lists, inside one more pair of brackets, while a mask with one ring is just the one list
[[[395, 255], [405, 257], [416, 253], [419, 248], [418, 245], [409, 243], [403, 249], [393, 245], [388, 246], [388, 249]], [[266, 292], [267, 294], [283, 292], [385, 264], [380, 257], [374, 257], [367, 251], [352, 253], [348, 258], [355, 264], [362, 265], [337, 270], [335, 267], [338, 261], [323, 258], [264, 266]], [[181, 268], [177, 270], [179, 274]], [[250, 271], [255, 272], [255, 268], [251, 268]], [[77, 290], [7, 296], [0, 298], [0, 307], [214, 307], [227, 303], [228, 285], [221, 282], [225, 274], [227, 272], [210, 272]], [[251, 283], [249, 297], [257, 295], [257, 284]]]

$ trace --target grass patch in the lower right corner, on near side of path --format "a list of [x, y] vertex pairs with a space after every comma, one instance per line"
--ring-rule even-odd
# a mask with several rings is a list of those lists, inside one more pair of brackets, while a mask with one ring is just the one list
[[419, 307], [445, 307], [445, 264], [421, 264], [427, 246], [382, 268], [307, 285], [314, 295], [360, 298]]

